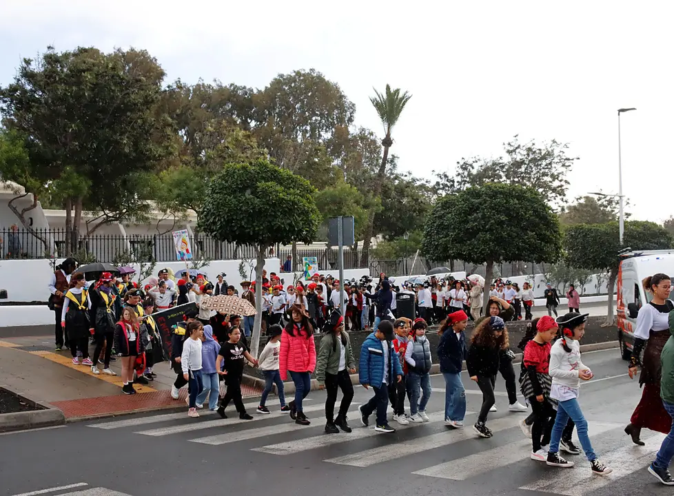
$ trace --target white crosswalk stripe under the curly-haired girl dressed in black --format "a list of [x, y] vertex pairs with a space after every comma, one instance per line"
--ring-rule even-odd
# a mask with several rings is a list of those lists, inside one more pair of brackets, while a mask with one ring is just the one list
[[[488, 426], [493, 432], [506, 431], [509, 428], [517, 426], [520, 418], [509, 415], [489, 422]], [[478, 435], [473, 432], [471, 426], [466, 426], [464, 429], [456, 429], [452, 432], [442, 432], [425, 437], [417, 437], [416, 439], [405, 441], [399, 444], [385, 444], [377, 448], [352, 453], [351, 455], [340, 456], [336, 458], [325, 459], [323, 462], [334, 463], [339, 465], [349, 465], [358, 467], [369, 467], [382, 462], [389, 462], [392, 459], [400, 457], [424, 453], [427, 450], [441, 448], [457, 442], [476, 440]], [[482, 440], [489, 443], [489, 440]]]

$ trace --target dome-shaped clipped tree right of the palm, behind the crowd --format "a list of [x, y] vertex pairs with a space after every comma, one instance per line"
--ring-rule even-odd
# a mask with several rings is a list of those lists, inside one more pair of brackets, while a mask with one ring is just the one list
[[[522, 216], [526, 210], [527, 215]], [[487, 184], [447, 195], [424, 229], [423, 251], [433, 260], [486, 264], [487, 282], [498, 262], [555, 262], [561, 235], [557, 216], [540, 193], [522, 186]], [[489, 303], [489, 285], [484, 289]]]

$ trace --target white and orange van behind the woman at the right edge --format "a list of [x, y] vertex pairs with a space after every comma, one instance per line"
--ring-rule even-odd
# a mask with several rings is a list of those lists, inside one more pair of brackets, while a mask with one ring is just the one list
[[655, 273], [674, 277], [674, 250], [627, 250], [620, 254], [617, 276], [617, 328], [620, 353], [629, 360], [639, 309], [651, 301], [643, 280]]

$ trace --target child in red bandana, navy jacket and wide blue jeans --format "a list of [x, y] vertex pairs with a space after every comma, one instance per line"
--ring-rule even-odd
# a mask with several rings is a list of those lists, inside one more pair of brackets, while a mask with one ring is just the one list
[[463, 428], [466, 416], [466, 390], [461, 381], [461, 369], [468, 355], [464, 333], [467, 324], [467, 313], [459, 310], [450, 313], [438, 331], [438, 360], [445, 378], [445, 424], [453, 428]]

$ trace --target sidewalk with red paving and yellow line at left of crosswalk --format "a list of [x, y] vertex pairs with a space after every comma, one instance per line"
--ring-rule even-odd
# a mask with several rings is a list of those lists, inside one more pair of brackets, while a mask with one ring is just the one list
[[[94, 375], [90, 366], [72, 364], [70, 351], [54, 351], [51, 336], [3, 338], [0, 340], [0, 383], [20, 391], [35, 401], [57, 407], [66, 420], [121, 415], [163, 409], [187, 409], [187, 387], [181, 389], [179, 400], [171, 397], [176, 379], [168, 362], [154, 366], [157, 377], [149, 385], [134, 384], [139, 394], [121, 392], [121, 362], [110, 363], [116, 376]], [[90, 347], [90, 353], [93, 353]], [[92, 358], [93, 360], [93, 358]], [[244, 397], [260, 395], [261, 391], [242, 386]]]

